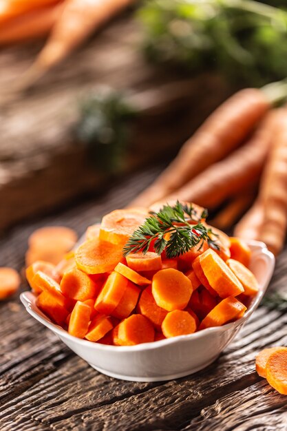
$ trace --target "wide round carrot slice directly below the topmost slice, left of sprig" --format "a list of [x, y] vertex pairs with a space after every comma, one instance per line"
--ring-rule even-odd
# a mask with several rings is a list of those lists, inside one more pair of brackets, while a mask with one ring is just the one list
[[123, 262], [123, 251], [119, 246], [95, 238], [84, 242], [75, 253], [78, 269], [87, 274], [113, 271], [118, 262]]

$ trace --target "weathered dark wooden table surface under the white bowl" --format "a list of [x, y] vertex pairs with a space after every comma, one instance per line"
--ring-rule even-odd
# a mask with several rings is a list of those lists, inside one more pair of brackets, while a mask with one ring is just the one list
[[[95, 202], [15, 228], [0, 241], [0, 264], [21, 269], [28, 235], [45, 224], [83, 233], [121, 207], [160, 168], [125, 178]], [[273, 288], [287, 282], [287, 249]], [[27, 286], [23, 285], [25, 290]], [[287, 430], [287, 398], [255, 372], [255, 355], [287, 344], [287, 315], [261, 307], [214, 364], [195, 375], [132, 383], [101, 375], [36, 322], [14, 297], [0, 306], [0, 430]]]

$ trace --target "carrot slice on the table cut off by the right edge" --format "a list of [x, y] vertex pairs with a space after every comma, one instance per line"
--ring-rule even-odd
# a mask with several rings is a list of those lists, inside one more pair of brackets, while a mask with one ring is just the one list
[[278, 348], [268, 357], [266, 379], [279, 394], [287, 395], [287, 348]]

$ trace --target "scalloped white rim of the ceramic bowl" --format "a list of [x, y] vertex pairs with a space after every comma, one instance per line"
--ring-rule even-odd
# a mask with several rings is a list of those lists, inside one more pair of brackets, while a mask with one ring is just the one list
[[268, 284], [270, 282], [270, 279], [273, 275], [273, 271], [275, 268], [275, 256], [273, 255], [273, 253], [268, 251], [266, 244], [264, 244], [264, 242], [259, 242], [256, 240], [249, 240], [246, 242], [248, 243], [249, 246], [251, 246], [251, 249], [252, 249], [251, 257], [254, 255], [264, 255], [269, 260], [268, 262], [269, 271], [266, 274], [267, 275], [266, 280], [262, 284], [257, 295], [253, 298], [253, 301], [251, 302], [251, 306], [248, 308], [246, 313], [244, 313], [243, 317], [241, 317], [240, 319], [237, 319], [235, 322], [230, 322], [222, 326], [213, 326], [211, 328], [205, 328], [193, 334], [178, 335], [177, 337], [166, 338], [158, 341], [150, 341], [148, 343], [136, 344], [136, 346], [110, 346], [108, 344], [100, 344], [95, 341], [89, 341], [86, 339], [74, 337], [74, 335], [70, 335], [67, 332], [67, 330], [61, 328], [61, 326], [54, 324], [36, 306], [36, 295], [34, 295], [32, 291], [25, 291], [21, 293], [20, 299], [23, 305], [25, 306], [26, 310], [28, 311], [28, 313], [32, 315], [34, 319], [41, 322], [44, 326], [52, 330], [52, 332], [59, 335], [59, 337], [61, 338], [63, 337], [72, 343], [78, 344], [79, 346], [87, 346], [89, 348], [94, 348], [96, 350], [98, 349], [98, 350], [102, 350], [110, 353], [111, 352], [134, 353], [134, 352], [140, 352], [142, 350], [153, 350], [155, 348], [160, 348], [162, 346], [170, 346], [171, 344], [177, 344], [180, 341], [191, 341], [193, 339], [198, 339], [200, 337], [204, 337], [204, 335], [207, 335], [208, 333], [209, 334], [224, 333], [229, 328], [234, 327], [234, 329], [236, 329], [238, 325], [245, 323], [246, 320], [253, 314], [253, 311], [255, 311], [255, 309], [261, 302], [262, 297], [264, 296], [264, 293], [266, 292], [266, 289], [268, 287]]

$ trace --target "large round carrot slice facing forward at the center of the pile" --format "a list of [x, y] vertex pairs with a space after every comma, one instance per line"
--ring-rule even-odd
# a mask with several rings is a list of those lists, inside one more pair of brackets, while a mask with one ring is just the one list
[[183, 310], [189, 303], [191, 281], [176, 269], [162, 269], [153, 277], [151, 291], [156, 304], [167, 311]]

